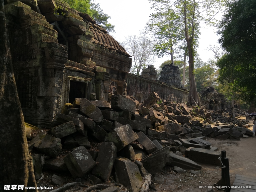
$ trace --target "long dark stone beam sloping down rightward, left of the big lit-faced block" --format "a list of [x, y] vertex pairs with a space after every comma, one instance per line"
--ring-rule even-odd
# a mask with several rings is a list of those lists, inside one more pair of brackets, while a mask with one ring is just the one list
[[88, 129], [89, 133], [92, 136], [94, 136], [99, 141], [104, 141], [104, 138], [107, 132], [104, 129], [102, 129], [99, 125], [97, 125], [94, 121], [72, 111], [70, 111], [68, 115], [73, 118], [79, 119], [84, 124], [84, 126]]

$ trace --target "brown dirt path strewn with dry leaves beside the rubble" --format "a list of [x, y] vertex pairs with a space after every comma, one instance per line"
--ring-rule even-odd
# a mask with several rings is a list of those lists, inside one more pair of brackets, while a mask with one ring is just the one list
[[[240, 119], [245, 119], [242, 117]], [[252, 130], [252, 120], [249, 121]], [[229, 158], [230, 183], [234, 182], [236, 174], [256, 176], [256, 137], [240, 138], [241, 140], [217, 140], [208, 138], [207, 141], [212, 146], [218, 147], [219, 151], [226, 151]], [[166, 173], [159, 172], [165, 179], [162, 184], [156, 184], [156, 190], [160, 191], [207, 191], [207, 189], [199, 188], [199, 186], [212, 186], [221, 178], [221, 168], [214, 165], [202, 164], [201, 174], [192, 175], [190, 170], [186, 173], [177, 174], [171, 167], [166, 168]], [[161, 175], [160, 175], [161, 177]], [[200, 183], [199, 183], [200, 182]], [[202, 183], [201, 183], [202, 182]]]

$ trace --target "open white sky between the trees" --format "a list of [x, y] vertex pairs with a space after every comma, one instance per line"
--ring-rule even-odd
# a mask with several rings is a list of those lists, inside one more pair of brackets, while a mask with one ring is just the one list
[[[115, 33], [110, 33], [118, 42], [125, 41], [125, 37], [129, 35], [139, 35], [140, 30], [143, 30], [149, 20], [153, 10], [150, 9], [151, 3], [148, 0], [94, 0], [94, 3], [100, 4], [103, 12], [111, 16], [109, 23], [115, 25]], [[213, 58], [212, 52], [207, 50], [207, 46], [218, 44], [218, 37], [214, 33], [214, 27], [202, 26], [199, 39], [199, 47], [197, 49], [200, 58], [207, 61]], [[157, 58], [157, 57], [156, 57]], [[153, 64], [158, 67], [170, 57], [157, 58]]]

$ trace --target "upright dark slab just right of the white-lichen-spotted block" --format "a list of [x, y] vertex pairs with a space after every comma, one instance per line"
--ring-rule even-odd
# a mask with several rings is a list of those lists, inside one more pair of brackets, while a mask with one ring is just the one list
[[99, 146], [99, 154], [96, 159], [98, 164], [92, 169], [92, 174], [106, 182], [114, 166], [116, 152], [117, 148], [114, 143], [103, 142]]

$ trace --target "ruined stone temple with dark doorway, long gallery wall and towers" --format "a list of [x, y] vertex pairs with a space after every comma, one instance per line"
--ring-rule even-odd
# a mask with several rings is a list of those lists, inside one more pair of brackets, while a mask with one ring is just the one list
[[[187, 101], [178, 67], [164, 66], [159, 80], [153, 66], [141, 76], [129, 73], [131, 56], [87, 14], [54, 0], [5, 1], [5, 14], [19, 99], [30, 124], [48, 125], [65, 103], [90, 99], [93, 92], [97, 100], [120, 94], [143, 101], [154, 91], [163, 100]], [[207, 105], [214, 106], [208, 96]]]

